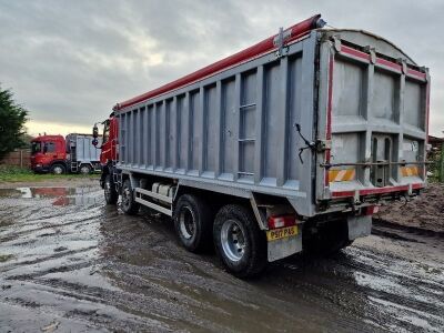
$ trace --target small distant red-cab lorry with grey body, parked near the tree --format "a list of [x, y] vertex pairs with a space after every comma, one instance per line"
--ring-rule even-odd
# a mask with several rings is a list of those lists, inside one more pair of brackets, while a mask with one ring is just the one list
[[[91, 134], [39, 135], [31, 141], [31, 169], [61, 174], [100, 171], [100, 153]], [[100, 140], [101, 138], [97, 138]]]

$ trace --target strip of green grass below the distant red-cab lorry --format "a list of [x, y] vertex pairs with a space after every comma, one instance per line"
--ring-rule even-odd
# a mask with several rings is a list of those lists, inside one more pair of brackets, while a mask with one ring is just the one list
[[59, 179], [73, 179], [73, 178], [98, 178], [95, 174], [36, 174], [32, 170], [28, 168], [11, 167], [11, 165], [0, 165], [0, 182], [38, 182], [48, 180], [59, 180]]

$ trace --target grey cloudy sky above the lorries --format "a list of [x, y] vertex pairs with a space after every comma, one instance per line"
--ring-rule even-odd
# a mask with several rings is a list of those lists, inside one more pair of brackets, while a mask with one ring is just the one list
[[381, 34], [428, 67], [431, 133], [441, 134], [443, 0], [0, 0], [0, 84], [31, 111], [31, 134], [90, 132], [117, 102], [317, 12], [335, 28]]

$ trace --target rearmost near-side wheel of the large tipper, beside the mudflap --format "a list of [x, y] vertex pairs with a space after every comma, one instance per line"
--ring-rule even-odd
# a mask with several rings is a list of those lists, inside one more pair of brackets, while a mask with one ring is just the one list
[[245, 206], [223, 206], [215, 216], [213, 238], [222, 263], [235, 276], [254, 276], [265, 269], [265, 233]]

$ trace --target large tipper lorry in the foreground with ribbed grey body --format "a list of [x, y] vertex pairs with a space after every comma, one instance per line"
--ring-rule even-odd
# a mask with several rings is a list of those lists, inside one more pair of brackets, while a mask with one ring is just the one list
[[379, 36], [323, 26], [315, 16], [117, 104], [107, 202], [171, 216], [188, 250], [213, 243], [238, 276], [369, 235], [382, 203], [426, 184], [430, 75]]

